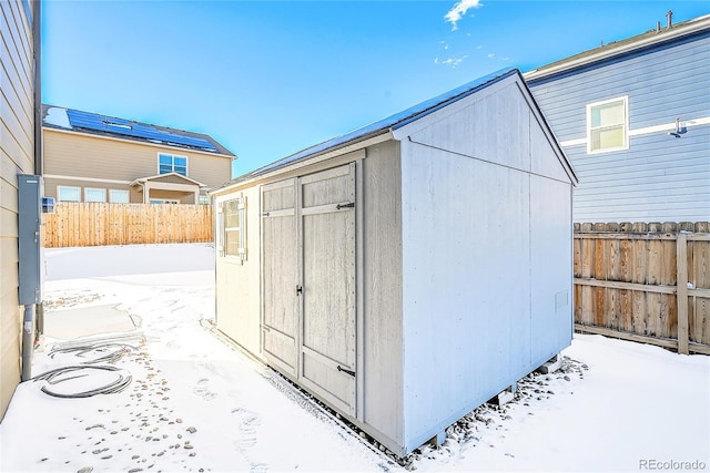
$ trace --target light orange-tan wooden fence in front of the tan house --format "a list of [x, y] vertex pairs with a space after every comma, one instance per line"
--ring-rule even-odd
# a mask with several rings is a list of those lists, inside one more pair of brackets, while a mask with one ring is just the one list
[[42, 214], [47, 248], [212, 241], [211, 205], [57, 203]]

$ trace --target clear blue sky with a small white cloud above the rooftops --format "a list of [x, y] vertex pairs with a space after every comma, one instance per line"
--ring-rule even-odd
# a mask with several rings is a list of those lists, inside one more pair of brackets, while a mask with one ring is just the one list
[[206, 133], [234, 175], [706, 1], [43, 2], [42, 101]]

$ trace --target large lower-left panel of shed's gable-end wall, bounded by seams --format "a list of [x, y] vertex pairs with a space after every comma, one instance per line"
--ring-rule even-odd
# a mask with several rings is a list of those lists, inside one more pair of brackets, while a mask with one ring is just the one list
[[530, 364], [529, 178], [404, 143], [402, 167], [405, 444], [418, 445]]

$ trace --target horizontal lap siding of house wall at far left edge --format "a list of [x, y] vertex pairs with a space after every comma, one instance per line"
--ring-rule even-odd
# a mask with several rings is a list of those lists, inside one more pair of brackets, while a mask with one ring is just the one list
[[21, 2], [0, 2], [0, 419], [20, 381], [18, 174], [33, 172], [32, 32]]

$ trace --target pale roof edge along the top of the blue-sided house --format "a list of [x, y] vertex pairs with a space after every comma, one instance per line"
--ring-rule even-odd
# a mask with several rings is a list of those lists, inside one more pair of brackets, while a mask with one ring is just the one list
[[696, 34], [710, 30], [710, 14], [697, 17], [691, 20], [680, 22], [670, 28], [650, 30], [625, 40], [615, 41], [592, 50], [584, 51], [579, 54], [562, 59], [534, 69], [523, 74], [526, 81], [535, 81], [572, 69], [584, 68], [605, 60], [609, 60], [621, 54], [631, 53], [645, 48], [657, 47], [669, 41], [677, 41], [690, 34]]

